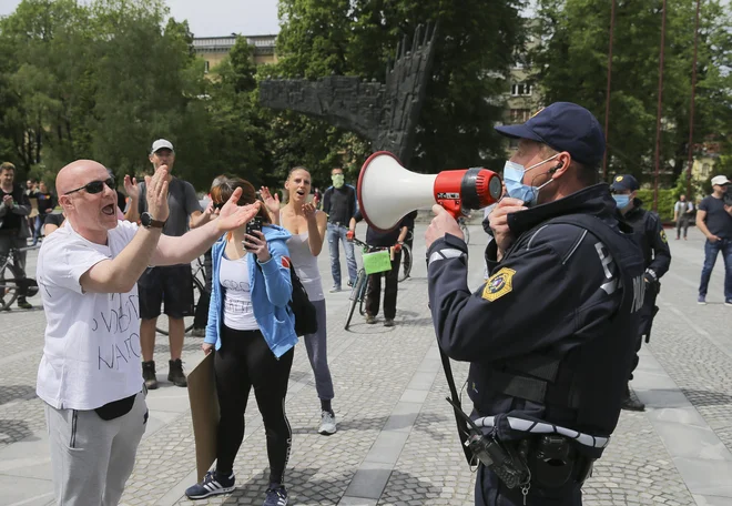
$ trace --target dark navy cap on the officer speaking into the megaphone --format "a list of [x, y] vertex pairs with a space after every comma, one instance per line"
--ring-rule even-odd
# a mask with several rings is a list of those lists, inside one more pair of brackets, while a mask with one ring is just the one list
[[526, 123], [496, 126], [496, 130], [509, 138], [530, 139], [556, 151], [567, 151], [587, 165], [598, 164], [604, 154], [604, 134], [597, 118], [572, 102], [555, 102]]

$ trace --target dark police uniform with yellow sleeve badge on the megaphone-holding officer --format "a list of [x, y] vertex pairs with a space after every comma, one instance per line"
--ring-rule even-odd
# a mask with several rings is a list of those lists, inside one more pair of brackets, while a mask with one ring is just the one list
[[476, 505], [579, 505], [603, 446], [563, 441], [570, 467], [560, 483], [537, 465], [540, 436], [530, 431], [548, 422], [591, 436], [613, 432], [643, 301], [640, 249], [606, 184], [514, 213], [508, 224], [516, 242], [500, 262], [488, 245], [490, 277], [476, 293], [461, 240], [448, 234], [427, 252], [440, 348], [471, 363], [471, 417], [496, 415], [484, 433], [515, 445], [531, 470], [523, 497], [480, 465]]

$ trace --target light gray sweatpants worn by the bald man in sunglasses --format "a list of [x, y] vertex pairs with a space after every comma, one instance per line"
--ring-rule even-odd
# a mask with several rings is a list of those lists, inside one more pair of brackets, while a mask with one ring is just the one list
[[57, 504], [116, 505], [145, 432], [145, 395], [139, 393], [132, 409], [111, 421], [93, 409], [57, 409], [47, 404], [45, 423]]

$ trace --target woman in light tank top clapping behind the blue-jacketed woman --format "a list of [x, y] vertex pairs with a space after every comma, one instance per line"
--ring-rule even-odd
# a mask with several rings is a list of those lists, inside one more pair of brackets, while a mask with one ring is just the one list
[[328, 367], [325, 294], [317, 255], [323, 250], [327, 229], [327, 216], [316, 209], [317, 202], [307, 203], [311, 194], [311, 173], [296, 166], [289, 171], [285, 190], [287, 205], [279, 209], [279, 200], [273, 198], [270, 190], [262, 188], [262, 198], [270, 211], [273, 223], [282, 225], [293, 236], [287, 241], [289, 259], [299, 281], [307, 291], [307, 296], [317, 311], [317, 332], [304, 336], [307, 356], [315, 374], [315, 387], [321, 398], [321, 426], [318, 433], [331, 435], [336, 432], [336, 419], [331, 405], [334, 397], [333, 380]]

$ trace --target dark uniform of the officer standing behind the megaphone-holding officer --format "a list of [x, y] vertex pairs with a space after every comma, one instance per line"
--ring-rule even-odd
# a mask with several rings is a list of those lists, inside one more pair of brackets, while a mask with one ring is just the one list
[[640, 316], [640, 333], [638, 335], [637, 353], [633, 358], [632, 372], [638, 366], [638, 350], [640, 350], [642, 337], [645, 342], [650, 340], [651, 327], [653, 326], [653, 316], [659, 308], [655, 305], [655, 297], [661, 289], [660, 280], [667, 273], [671, 265], [671, 250], [663, 231], [661, 220], [652, 211], [642, 209], [643, 202], [640, 199], [633, 200], [633, 208], [623, 216], [633, 231], [639, 235], [641, 249], [643, 251], [643, 265], [645, 267], [645, 301]]

